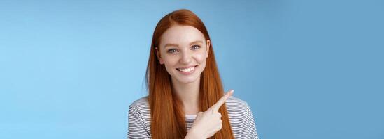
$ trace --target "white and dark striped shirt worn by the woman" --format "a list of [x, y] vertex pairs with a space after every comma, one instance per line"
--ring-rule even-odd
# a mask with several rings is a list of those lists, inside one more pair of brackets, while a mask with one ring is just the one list
[[[258, 139], [253, 115], [246, 101], [230, 96], [225, 105], [234, 138]], [[192, 127], [195, 118], [196, 115], [185, 115], [187, 131]], [[128, 138], [151, 138], [148, 97], [142, 97], [129, 106]]]

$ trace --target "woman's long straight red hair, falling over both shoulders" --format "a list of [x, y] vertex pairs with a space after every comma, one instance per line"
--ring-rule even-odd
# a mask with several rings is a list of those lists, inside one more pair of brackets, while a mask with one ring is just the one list
[[[184, 119], [185, 113], [182, 104], [172, 92], [171, 76], [166, 72], [164, 65], [159, 63], [155, 50], [155, 47], [159, 47], [162, 34], [176, 24], [193, 26], [204, 34], [206, 40], [211, 40], [201, 19], [190, 10], [182, 9], [173, 11], [165, 15], [160, 19], [159, 23], [157, 23], [152, 37], [150, 57], [145, 76], [148, 85], [148, 101], [151, 112], [150, 131], [152, 138], [155, 139], [185, 138], [187, 135]], [[201, 73], [199, 91], [200, 111], [206, 111], [224, 95], [215, 55], [213, 54], [212, 43], [209, 47], [206, 67]], [[219, 112], [222, 115], [222, 129], [211, 138], [234, 138], [225, 105], [220, 107]]]

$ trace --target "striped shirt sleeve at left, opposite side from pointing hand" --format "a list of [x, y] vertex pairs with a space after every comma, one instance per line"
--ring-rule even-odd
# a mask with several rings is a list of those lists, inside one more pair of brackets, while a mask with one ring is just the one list
[[128, 115], [128, 139], [131, 138], [150, 138], [148, 131], [145, 129], [144, 121], [138, 111], [136, 105], [129, 106]]

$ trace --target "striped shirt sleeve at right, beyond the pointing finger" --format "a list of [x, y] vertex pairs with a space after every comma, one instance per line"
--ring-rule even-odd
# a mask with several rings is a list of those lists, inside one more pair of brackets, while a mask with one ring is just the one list
[[248, 104], [246, 104], [246, 112], [241, 121], [241, 138], [259, 138], [257, 136], [255, 120], [253, 119], [252, 111], [250, 111]]

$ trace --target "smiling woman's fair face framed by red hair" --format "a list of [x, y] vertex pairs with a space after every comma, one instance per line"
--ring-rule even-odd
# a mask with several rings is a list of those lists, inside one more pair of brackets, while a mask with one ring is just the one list
[[175, 25], [163, 33], [157, 58], [172, 81], [194, 83], [206, 67], [210, 44], [197, 28]]

